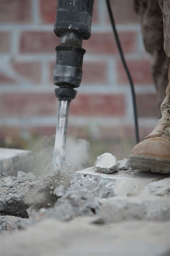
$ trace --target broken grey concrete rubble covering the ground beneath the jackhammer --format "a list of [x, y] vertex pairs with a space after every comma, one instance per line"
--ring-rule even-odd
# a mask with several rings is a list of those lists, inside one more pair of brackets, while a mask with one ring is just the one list
[[0, 174], [1, 255], [169, 256], [170, 176], [127, 169], [126, 158], [110, 155], [70, 184], [51, 170]]

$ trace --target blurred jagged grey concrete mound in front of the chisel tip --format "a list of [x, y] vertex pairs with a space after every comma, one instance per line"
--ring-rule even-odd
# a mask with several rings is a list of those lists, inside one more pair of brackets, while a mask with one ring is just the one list
[[58, 198], [55, 206], [42, 209], [35, 215], [35, 220], [53, 218], [68, 221], [77, 216], [94, 216], [100, 211], [98, 199], [91, 196], [80, 184], [73, 184], [65, 194]]

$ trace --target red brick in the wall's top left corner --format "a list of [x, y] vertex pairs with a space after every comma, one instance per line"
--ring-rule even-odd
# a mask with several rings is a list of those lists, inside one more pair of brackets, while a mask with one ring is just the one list
[[30, 0], [1, 0], [1, 23], [30, 23], [32, 19]]

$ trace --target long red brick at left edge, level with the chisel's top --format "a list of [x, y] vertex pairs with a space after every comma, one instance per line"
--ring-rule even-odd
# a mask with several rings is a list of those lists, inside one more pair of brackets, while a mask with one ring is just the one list
[[45, 116], [57, 114], [54, 93], [1, 93], [1, 116]]

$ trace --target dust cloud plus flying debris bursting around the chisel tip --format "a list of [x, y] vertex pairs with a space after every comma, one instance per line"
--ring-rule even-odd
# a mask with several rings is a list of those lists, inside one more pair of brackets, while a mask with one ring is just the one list
[[27, 202], [37, 209], [52, 207], [69, 187], [73, 172], [85, 168], [89, 158], [89, 142], [67, 138], [65, 166], [63, 170], [54, 170], [51, 167], [54, 143], [54, 136], [43, 136], [28, 147], [33, 152], [32, 171], [38, 183], [32, 189], [31, 196], [27, 197]]

